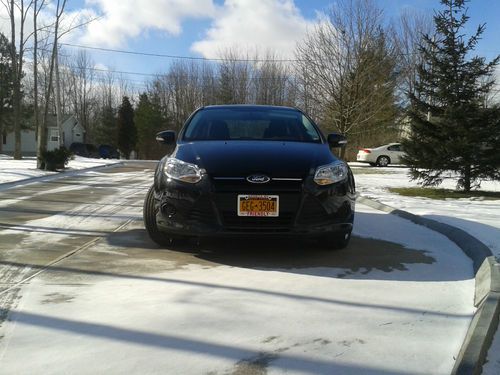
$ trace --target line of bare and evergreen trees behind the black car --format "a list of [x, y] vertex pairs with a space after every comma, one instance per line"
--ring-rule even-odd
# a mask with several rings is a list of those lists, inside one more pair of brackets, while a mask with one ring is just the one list
[[[441, 0], [442, 7], [448, 9], [448, 13], [438, 13], [441, 21], [416, 12], [404, 12], [390, 21], [372, 0], [340, 0], [297, 42], [291, 58], [274, 51], [233, 48], [221, 51], [216, 61], [174, 60], [163, 72], [137, 82], [129, 75], [99, 69], [84, 50], [70, 55], [61, 47], [61, 35], [92, 22], [64, 22], [64, 0], [58, 0], [54, 7], [53, 23], [41, 26], [36, 24], [36, 14], [46, 6], [44, 1], [0, 1], [10, 4], [9, 14], [13, 9], [23, 14], [31, 11], [34, 22], [29, 36], [33, 39], [31, 59], [26, 58], [26, 35], [21, 32], [17, 42], [19, 32], [13, 31], [10, 38], [0, 35], [0, 101], [4, 103], [0, 106], [0, 131], [15, 131], [15, 157], [21, 157], [17, 147], [21, 129], [34, 126], [43, 141], [49, 113], [58, 118], [74, 114], [88, 143], [112, 144], [126, 157], [134, 150], [140, 158], [153, 159], [165, 152], [155, 144], [156, 132], [179, 130], [196, 108], [253, 103], [303, 109], [324, 131], [347, 135], [349, 147], [342, 150], [341, 157], [352, 160], [358, 147], [419, 134], [415, 124], [427, 119], [428, 113], [432, 115], [422, 125], [424, 131], [433, 124], [432, 119], [440, 121], [443, 111], [436, 108], [445, 103], [438, 99], [444, 79], [464, 82], [464, 76], [428, 76], [439, 71], [439, 56], [453, 54], [458, 48], [465, 61], [470, 52], [458, 43], [467, 19], [457, 23], [456, 12], [466, 13], [464, 0]], [[13, 16], [11, 21], [20, 23], [22, 30], [26, 19]], [[453, 35], [446, 42], [449, 32]], [[479, 35], [472, 37], [473, 42]], [[475, 43], [467, 46], [471, 49]], [[450, 61], [457, 63], [457, 56]], [[472, 64], [470, 68], [477, 74], [469, 83], [476, 87], [478, 80], [485, 80], [487, 84], [460, 100], [474, 101], [481, 109], [496, 108], [491, 100], [496, 62], [488, 69], [480, 69], [478, 61]], [[443, 69], [454, 71], [450, 62]], [[428, 86], [428, 79], [434, 88]], [[489, 116], [495, 118], [494, 114]], [[490, 127], [490, 132], [498, 132], [497, 128]], [[39, 149], [43, 148], [40, 143]], [[423, 157], [417, 155], [416, 145], [407, 144], [415, 156], [408, 161], [415, 166], [415, 178], [421, 178], [418, 170], [427, 164], [417, 163]]]

